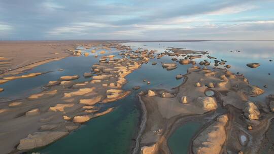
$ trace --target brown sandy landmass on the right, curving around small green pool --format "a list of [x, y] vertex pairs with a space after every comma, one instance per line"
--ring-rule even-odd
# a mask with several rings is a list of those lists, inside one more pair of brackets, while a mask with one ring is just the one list
[[[189, 117], [193, 120], [197, 115], [206, 117], [204, 113], [220, 115], [223, 109], [229, 116], [215, 120], [213, 117], [214, 123], [203, 121], [208, 124], [193, 138], [190, 153], [212, 153], [212, 149], [215, 153], [256, 153], [273, 115], [267, 106], [249, 102], [247, 96], [256, 97], [264, 91], [250, 85], [243, 75], [216, 67], [211, 70], [193, 66], [184, 78], [184, 83], [173, 91], [151, 90], [139, 94], [147, 116], [140, 141], [141, 153], [170, 153], [166, 140], [178, 127], [178, 121]], [[206, 95], [208, 90], [214, 92], [212, 97]], [[245, 141], [241, 141], [243, 138]]]

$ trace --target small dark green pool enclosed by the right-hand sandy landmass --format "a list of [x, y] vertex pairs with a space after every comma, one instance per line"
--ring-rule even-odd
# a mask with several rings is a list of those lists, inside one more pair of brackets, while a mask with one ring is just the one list
[[179, 127], [167, 140], [167, 145], [173, 154], [187, 154], [190, 140], [201, 127], [199, 122], [187, 122]]

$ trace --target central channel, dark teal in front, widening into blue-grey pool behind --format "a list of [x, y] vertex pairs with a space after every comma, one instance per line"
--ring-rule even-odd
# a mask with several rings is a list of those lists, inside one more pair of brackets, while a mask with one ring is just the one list
[[[128, 83], [123, 89], [131, 89], [134, 86], [141, 86], [141, 89], [134, 91], [122, 100], [107, 104], [116, 106], [115, 111], [87, 122], [74, 133], [53, 144], [33, 151], [41, 153], [85, 153], [87, 151], [90, 153], [130, 153], [131, 147], [135, 143], [133, 139], [138, 131], [141, 115], [136, 94], [150, 88], [170, 89], [176, 87], [183, 81], [182, 79], [176, 80], [176, 74], [186, 73], [187, 69], [187, 66], [181, 65], [179, 67], [182, 69], [166, 73], [167, 70], [162, 68], [159, 61], [154, 66], [151, 65], [152, 61], [143, 64], [140, 69], [126, 76]], [[147, 85], [143, 79], [151, 81], [151, 84]]]

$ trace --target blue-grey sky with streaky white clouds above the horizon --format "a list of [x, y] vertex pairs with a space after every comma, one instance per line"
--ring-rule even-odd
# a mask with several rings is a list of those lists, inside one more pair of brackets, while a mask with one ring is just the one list
[[0, 40], [274, 40], [274, 0], [0, 0]]

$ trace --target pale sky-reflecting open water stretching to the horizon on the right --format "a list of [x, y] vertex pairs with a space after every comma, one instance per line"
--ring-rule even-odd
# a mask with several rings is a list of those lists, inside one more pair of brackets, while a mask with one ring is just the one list
[[[265, 90], [261, 96], [250, 98], [251, 101], [264, 101], [269, 94], [274, 94], [274, 42], [271, 41], [207, 41], [207, 42], [138, 42], [125, 43], [135, 47], [144, 47], [149, 50], [164, 52], [167, 47], [186, 48], [187, 50], [208, 51], [210, 56], [218, 60], [226, 60], [231, 65], [229, 70], [233, 73], [244, 74], [248, 81]], [[144, 46], [146, 45], [146, 46]], [[240, 51], [240, 52], [236, 52]], [[232, 52], [230, 52], [232, 51]], [[175, 56], [176, 57], [176, 56]], [[165, 56], [166, 58], [166, 56]], [[168, 56], [169, 62], [172, 57]], [[194, 59], [197, 63], [207, 59], [213, 65], [214, 59], [206, 56]], [[270, 62], [269, 60], [273, 60]], [[247, 63], [260, 63], [257, 68], [246, 66]], [[219, 65], [221, 66], [221, 65]], [[270, 75], [268, 75], [270, 73]], [[267, 85], [267, 88], [263, 86]]]

